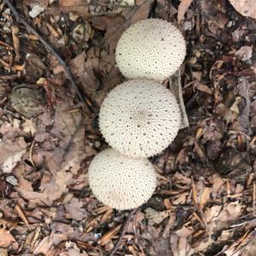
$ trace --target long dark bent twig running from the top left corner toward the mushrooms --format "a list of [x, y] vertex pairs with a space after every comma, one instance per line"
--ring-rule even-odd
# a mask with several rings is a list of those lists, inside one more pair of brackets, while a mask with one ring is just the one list
[[26, 29], [29, 32], [32, 32], [35, 36], [37, 36], [38, 40], [42, 44], [44, 44], [44, 47], [48, 49], [49, 52], [55, 56], [56, 60], [59, 61], [59, 63], [63, 66], [67, 74], [67, 79], [70, 81], [73, 89], [76, 91], [79, 100], [83, 103], [84, 108], [90, 111], [90, 106], [88, 106], [88, 104], [84, 101], [84, 97], [81, 95], [79, 88], [73, 79], [73, 75], [71, 74], [69, 67], [67, 67], [66, 62], [61, 58], [60, 55], [56, 53], [55, 49], [46, 40], [44, 40], [44, 38], [37, 32], [37, 30], [35, 30], [25, 19], [20, 16], [19, 12], [15, 9], [15, 6], [9, 0], [3, 0], [3, 2], [8, 5], [9, 9], [11, 9], [12, 13], [15, 15], [15, 20], [17, 20], [20, 24], [26, 26]]

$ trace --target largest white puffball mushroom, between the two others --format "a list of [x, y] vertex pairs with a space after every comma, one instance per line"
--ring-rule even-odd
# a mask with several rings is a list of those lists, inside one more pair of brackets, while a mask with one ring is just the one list
[[122, 154], [150, 157], [172, 143], [181, 113], [175, 96], [154, 80], [128, 80], [102, 102], [99, 125], [106, 142]]

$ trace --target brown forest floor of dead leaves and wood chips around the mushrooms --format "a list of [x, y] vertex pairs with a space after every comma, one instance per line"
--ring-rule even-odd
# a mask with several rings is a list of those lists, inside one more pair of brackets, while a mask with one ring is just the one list
[[86, 173], [108, 148], [97, 125], [102, 100], [125, 80], [116, 44], [148, 17], [172, 22], [186, 39], [189, 127], [150, 159], [157, 189], [115, 255], [256, 255], [253, 0], [236, 9], [228, 0], [126, 2], [13, 1], [70, 68], [78, 96], [63, 63], [0, 1], [0, 255], [113, 250], [129, 211], [97, 201]]

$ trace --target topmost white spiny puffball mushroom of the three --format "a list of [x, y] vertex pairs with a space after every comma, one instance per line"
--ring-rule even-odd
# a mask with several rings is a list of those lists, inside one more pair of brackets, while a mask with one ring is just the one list
[[166, 20], [140, 20], [122, 34], [115, 55], [126, 78], [163, 81], [182, 65], [186, 42]]

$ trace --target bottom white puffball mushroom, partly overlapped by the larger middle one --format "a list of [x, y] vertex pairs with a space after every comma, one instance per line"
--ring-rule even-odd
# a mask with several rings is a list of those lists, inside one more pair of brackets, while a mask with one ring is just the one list
[[148, 159], [130, 158], [112, 148], [96, 154], [88, 176], [96, 198], [118, 210], [143, 205], [156, 187], [154, 166]]

